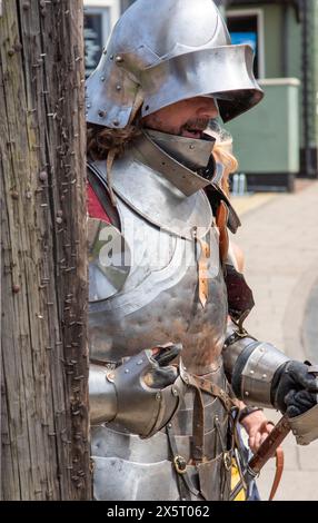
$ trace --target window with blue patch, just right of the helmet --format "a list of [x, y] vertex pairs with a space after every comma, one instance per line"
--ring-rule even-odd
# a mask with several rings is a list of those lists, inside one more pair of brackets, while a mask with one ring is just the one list
[[255, 52], [254, 73], [265, 77], [264, 14], [261, 9], [229, 10], [227, 26], [233, 45], [248, 43]]

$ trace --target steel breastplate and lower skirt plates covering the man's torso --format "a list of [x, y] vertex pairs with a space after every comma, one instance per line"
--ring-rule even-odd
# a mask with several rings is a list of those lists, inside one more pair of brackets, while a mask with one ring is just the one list
[[[106, 162], [95, 162], [92, 170], [107, 181]], [[186, 196], [143, 162], [133, 147], [115, 161], [111, 186], [129, 267], [122, 287], [109, 296], [103, 273], [90, 267], [91, 358], [111, 364], [143, 348], [181, 343], [187, 372], [227, 389], [221, 363], [227, 290], [219, 262], [219, 231], [205, 191]], [[203, 305], [199, 296], [202, 270], [207, 278]], [[229, 416], [219, 398], [205, 393], [201, 397], [206, 464], [195, 466], [191, 462], [191, 388], [172, 420], [173, 441], [188, 463], [190, 499], [227, 499]], [[180, 499], [165, 430], [141, 440], [112, 423], [93, 426], [92, 456], [97, 500]]]

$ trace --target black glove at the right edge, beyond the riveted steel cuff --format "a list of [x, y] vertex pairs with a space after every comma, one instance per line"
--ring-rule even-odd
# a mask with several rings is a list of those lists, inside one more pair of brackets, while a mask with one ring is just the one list
[[317, 404], [318, 381], [309, 372], [309, 365], [287, 362], [275, 373], [271, 385], [271, 403], [288, 417], [304, 414]]

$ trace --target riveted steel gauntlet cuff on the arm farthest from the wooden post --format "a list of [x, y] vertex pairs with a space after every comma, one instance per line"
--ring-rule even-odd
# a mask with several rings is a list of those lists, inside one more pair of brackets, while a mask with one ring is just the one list
[[289, 361], [269, 343], [261, 343], [233, 324], [223, 347], [227, 374], [237, 397], [246, 404], [272, 407], [271, 384], [276, 371]]

